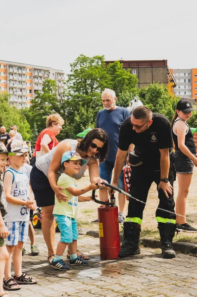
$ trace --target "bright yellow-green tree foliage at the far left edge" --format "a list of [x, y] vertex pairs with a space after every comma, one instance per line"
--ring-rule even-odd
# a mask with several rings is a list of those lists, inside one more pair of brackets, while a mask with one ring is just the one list
[[0, 126], [5, 126], [9, 132], [11, 125], [16, 125], [23, 139], [29, 140], [31, 136], [30, 125], [20, 109], [9, 105], [9, 96], [6, 93], [0, 94]]

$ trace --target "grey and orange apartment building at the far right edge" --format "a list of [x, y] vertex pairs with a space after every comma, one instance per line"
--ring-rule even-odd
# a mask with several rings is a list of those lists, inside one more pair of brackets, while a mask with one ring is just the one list
[[177, 82], [175, 95], [197, 99], [197, 68], [171, 69], [171, 71]]

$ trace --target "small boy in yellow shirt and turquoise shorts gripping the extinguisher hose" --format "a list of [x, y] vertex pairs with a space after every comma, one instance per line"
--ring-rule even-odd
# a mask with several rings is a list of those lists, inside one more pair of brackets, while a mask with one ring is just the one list
[[68, 200], [65, 202], [55, 196], [53, 216], [60, 230], [61, 239], [57, 244], [56, 254], [51, 262], [51, 266], [59, 270], [69, 269], [69, 266], [62, 259], [63, 252], [68, 243], [70, 244], [70, 265], [88, 264], [88, 261], [77, 256], [78, 229], [76, 217], [78, 201], [90, 201], [92, 197], [78, 197], [78, 195], [85, 194], [90, 190], [97, 190], [98, 187], [95, 184], [91, 184], [84, 189], [77, 190], [77, 184], [75, 178], [73, 178], [73, 175], [77, 174], [81, 166], [85, 163], [86, 160], [82, 159], [76, 151], [66, 151], [61, 158], [64, 171], [59, 177], [57, 185], [64, 188], [62, 193], [68, 196]]

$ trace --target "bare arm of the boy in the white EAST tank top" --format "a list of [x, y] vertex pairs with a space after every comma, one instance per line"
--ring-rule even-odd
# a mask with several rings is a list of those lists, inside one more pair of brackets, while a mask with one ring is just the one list
[[3, 178], [3, 188], [5, 191], [5, 197], [7, 202], [12, 203], [12, 204], [18, 204], [18, 205], [25, 205], [27, 207], [30, 207], [32, 204], [34, 204], [33, 201], [27, 200], [24, 201], [22, 199], [15, 198], [14, 196], [11, 195], [11, 187], [12, 187], [12, 173], [7, 171], [4, 174]]

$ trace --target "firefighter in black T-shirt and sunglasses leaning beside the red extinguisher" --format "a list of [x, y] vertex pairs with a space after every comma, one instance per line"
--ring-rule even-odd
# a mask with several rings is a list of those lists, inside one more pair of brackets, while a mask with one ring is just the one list
[[113, 185], [116, 187], [131, 143], [135, 145], [135, 151], [129, 154], [129, 163], [132, 166], [130, 195], [142, 202], [130, 198], [128, 215], [124, 222], [126, 240], [120, 248], [119, 256], [140, 254], [143, 211], [149, 188], [154, 181], [159, 198], [156, 220], [161, 237], [162, 254], [165, 258], [173, 258], [176, 255], [172, 248], [176, 215], [173, 198], [175, 174], [170, 168], [169, 157], [173, 147], [170, 122], [165, 116], [152, 113], [146, 106], [134, 108], [132, 115], [120, 128], [113, 177]]

